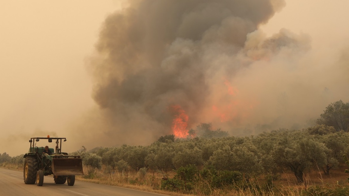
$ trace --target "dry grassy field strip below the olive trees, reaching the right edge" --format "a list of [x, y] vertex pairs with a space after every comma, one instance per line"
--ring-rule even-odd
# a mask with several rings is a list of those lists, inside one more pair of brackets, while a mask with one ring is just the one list
[[[22, 165], [2, 163], [1, 167], [22, 171]], [[164, 177], [172, 178], [175, 172], [162, 173], [160, 171], [112, 171], [110, 168], [103, 167], [96, 169], [84, 167], [84, 175], [76, 176], [76, 180], [92, 183], [108, 184], [138, 190], [144, 190], [154, 193], [168, 195], [208, 195], [208, 196], [340, 196], [349, 195], [348, 174], [344, 173], [345, 165], [333, 169], [329, 175], [324, 175], [320, 171], [308, 171], [305, 173], [306, 186], [298, 184], [297, 180], [289, 171], [285, 171], [272, 180], [272, 184], [266, 186], [267, 180], [263, 177], [250, 178], [245, 186], [235, 186], [224, 189], [210, 189], [205, 182], [196, 184], [190, 194], [181, 193], [181, 191], [161, 190], [161, 183]], [[248, 184], [248, 186], [246, 186]], [[241, 184], [240, 184], [241, 185]]]

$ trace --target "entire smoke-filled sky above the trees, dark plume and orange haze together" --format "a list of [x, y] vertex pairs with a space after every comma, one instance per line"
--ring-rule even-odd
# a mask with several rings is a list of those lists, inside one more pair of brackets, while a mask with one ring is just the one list
[[311, 126], [349, 101], [348, 6], [1, 2], [0, 153], [46, 135], [67, 152], [148, 145], [183, 116], [235, 136]]

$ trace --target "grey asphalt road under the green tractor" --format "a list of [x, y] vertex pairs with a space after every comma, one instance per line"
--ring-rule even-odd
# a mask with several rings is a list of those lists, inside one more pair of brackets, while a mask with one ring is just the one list
[[140, 190], [90, 182], [75, 181], [74, 186], [55, 184], [53, 176], [45, 176], [42, 187], [24, 184], [23, 172], [0, 168], [1, 196], [165, 196]]

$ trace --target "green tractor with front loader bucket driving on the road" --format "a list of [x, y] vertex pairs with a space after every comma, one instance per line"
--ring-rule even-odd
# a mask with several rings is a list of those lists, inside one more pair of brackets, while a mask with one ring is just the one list
[[[51, 153], [47, 153], [45, 147], [36, 146], [40, 140], [48, 140], [48, 142], [56, 140], [57, 145], [55, 149], [49, 148]], [[61, 152], [62, 140], [67, 141], [64, 137], [50, 137], [49, 135], [30, 138], [29, 152], [24, 154], [23, 178], [25, 184], [36, 183], [37, 186], [43, 186], [44, 176], [53, 174], [56, 184], [67, 182], [68, 186], [73, 186], [75, 175], [83, 175], [80, 156], [68, 156], [68, 153]]]

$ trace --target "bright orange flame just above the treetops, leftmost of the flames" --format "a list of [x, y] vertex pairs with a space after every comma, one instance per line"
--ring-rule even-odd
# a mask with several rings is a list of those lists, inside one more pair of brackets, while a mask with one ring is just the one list
[[170, 107], [171, 112], [174, 113], [174, 119], [172, 121], [173, 135], [177, 138], [186, 138], [188, 134], [188, 115], [180, 107], [180, 105], [173, 105]]

